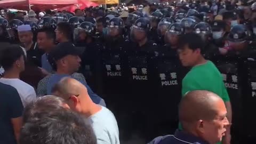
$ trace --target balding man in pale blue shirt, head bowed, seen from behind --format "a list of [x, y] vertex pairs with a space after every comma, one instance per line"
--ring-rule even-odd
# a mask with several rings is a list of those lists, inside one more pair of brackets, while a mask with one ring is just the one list
[[78, 113], [89, 118], [97, 144], [119, 144], [119, 130], [113, 113], [100, 105], [95, 104], [86, 87], [74, 78], [65, 77], [57, 83], [52, 94], [66, 100], [68, 106]]

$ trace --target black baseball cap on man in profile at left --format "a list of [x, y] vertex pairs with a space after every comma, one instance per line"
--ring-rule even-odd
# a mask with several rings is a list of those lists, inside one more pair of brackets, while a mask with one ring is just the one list
[[74, 46], [74, 44], [67, 42], [67, 43], [60, 43], [56, 45], [55, 49], [50, 52], [50, 55], [54, 61], [60, 60], [67, 55], [81, 55], [82, 50], [78, 47]]

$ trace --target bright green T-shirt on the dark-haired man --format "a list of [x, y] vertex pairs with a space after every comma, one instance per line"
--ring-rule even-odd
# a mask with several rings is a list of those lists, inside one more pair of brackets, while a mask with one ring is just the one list
[[[229, 101], [229, 95], [223, 77], [211, 61], [198, 65], [188, 72], [182, 80], [182, 97], [189, 91], [207, 90], [219, 95], [224, 102]], [[182, 130], [179, 123], [179, 129]]]

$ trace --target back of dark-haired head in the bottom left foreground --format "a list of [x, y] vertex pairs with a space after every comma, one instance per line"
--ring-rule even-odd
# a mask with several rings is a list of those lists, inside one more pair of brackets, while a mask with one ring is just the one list
[[[20, 144], [96, 144], [92, 127], [84, 118], [46, 95], [28, 104]], [[55, 109], [57, 108], [57, 109]]]

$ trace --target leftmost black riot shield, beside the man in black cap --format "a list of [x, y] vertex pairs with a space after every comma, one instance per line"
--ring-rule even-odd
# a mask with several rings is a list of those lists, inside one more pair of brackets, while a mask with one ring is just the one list
[[102, 95], [102, 78], [101, 78], [101, 47], [86, 47], [82, 54], [81, 73], [84, 75], [86, 82], [91, 89]]

